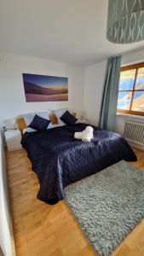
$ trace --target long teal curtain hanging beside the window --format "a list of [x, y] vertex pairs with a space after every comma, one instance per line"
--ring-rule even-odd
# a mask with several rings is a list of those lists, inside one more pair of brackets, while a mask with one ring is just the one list
[[109, 131], [114, 131], [116, 121], [120, 63], [121, 56], [112, 57], [107, 60], [99, 127]]

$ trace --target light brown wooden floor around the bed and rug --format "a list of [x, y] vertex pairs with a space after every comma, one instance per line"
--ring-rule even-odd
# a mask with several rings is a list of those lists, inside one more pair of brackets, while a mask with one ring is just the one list
[[[144, 170], [144, 152], [134, 166]], [[49, 206], [37, 200], [37, 177], [24, 150], [7, 153], [9, 196], [17, 256], [94, 256], [64, 201]], [[144, 220], [112, 256], [144, 255]]]

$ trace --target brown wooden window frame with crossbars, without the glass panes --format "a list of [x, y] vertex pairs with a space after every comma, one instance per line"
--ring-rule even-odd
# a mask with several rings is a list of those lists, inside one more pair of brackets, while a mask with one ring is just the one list
[[133, 90], [118, 90], [119, 91], [131, 91], [132, 92], [132, 96], [131, 96], [131, 101], [130, 101], [130, 110], [125, 110], [125, 109], [117, 109], [117, 113], [127, 113], [127, 114], [134, 114], [134, 115], [140, 115], [140, 116], [144, 116], [144, 112], [141, 111], [135, 111], [132, 110], [132, 102], [134, 99], [134, 93], [135, 91], [144, 91], [144, 90], [135, 90], [135, 83], [136, 83], [136, 78], [137, 78], [137, 73], [138, 73], [138, 68], [140, 67], [144, 67], [144, 62], [141, 63], [136, 63], [134, 65], [130, 65], [130, 66], [126, 66], [126, 67], [121, 67], [120, 68], [120, 73], [122, 71], [126, 71], [126, 70], [130, 70], [130, 69], [136, 69], [135, 71], [135, 80], [134, 80], [134, 85], [133, 85]]

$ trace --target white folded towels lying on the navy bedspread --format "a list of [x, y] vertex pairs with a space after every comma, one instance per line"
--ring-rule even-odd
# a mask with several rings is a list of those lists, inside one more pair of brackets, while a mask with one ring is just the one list
[[87, 126], [84, 131], [75, 132], [74, 137], [76, 139], [81, 139], [85, 143], [90, 143], [91, 139], [93, 138], [93, 131], [93, 127]]

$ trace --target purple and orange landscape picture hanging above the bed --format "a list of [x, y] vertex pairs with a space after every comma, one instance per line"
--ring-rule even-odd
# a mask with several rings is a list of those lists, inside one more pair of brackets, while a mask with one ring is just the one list
[[68, 101], [68, 78], [22, 73], [26, 102]]

